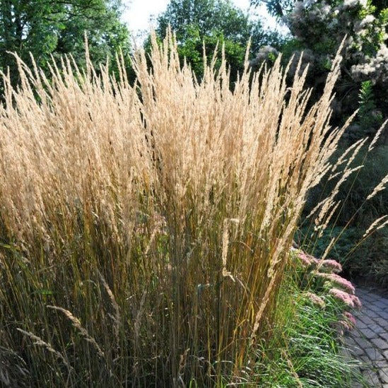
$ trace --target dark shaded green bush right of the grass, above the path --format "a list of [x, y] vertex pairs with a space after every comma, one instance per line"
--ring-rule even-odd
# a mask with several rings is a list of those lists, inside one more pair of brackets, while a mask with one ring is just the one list
[[[384, 257], [388, 255], [387, 228], [368, 233], [367, 238], [364, 234], [375, 219], [388, 213], [387, 190], [367, 200], [374, 187], [388, 175], [388, 147], [380, 144], [368, 155], [365, 154], [367, 150], [363, 150], [354, 160], [355, 165], [362, 164], [363, 168], [353, 179], [343, 182], [336, 196], [341, 206], [335, 212], [333, 222], [325, 230], [317, 231], [309, 220], [302, 218], [295, 239], [307, 252], [320, 257], [334, 238], [329, 256], [343, 264], [346, 274], [367, 277], [387, 286], [388, 271], [384, 265]], [[344, 152], [339, 148], [338, 155]], [[333, 191], [335, 185], [336, 180], [324, 180], [310, 192], [305, 216]]]

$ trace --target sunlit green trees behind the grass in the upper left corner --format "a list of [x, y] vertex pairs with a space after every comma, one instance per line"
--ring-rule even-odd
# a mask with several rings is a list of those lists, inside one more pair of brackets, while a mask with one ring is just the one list
[[16, 82], [16, 52], [29, 63], [30, 52], [38, 66], [51, 55], [72, 54], [83, 64], [84, 32], [90, 58], [97, 64], [122, 49], [129, 52], [129, 32], [119, 20], [121, 0], [1, 0], [0, 69], [10, 67]]

